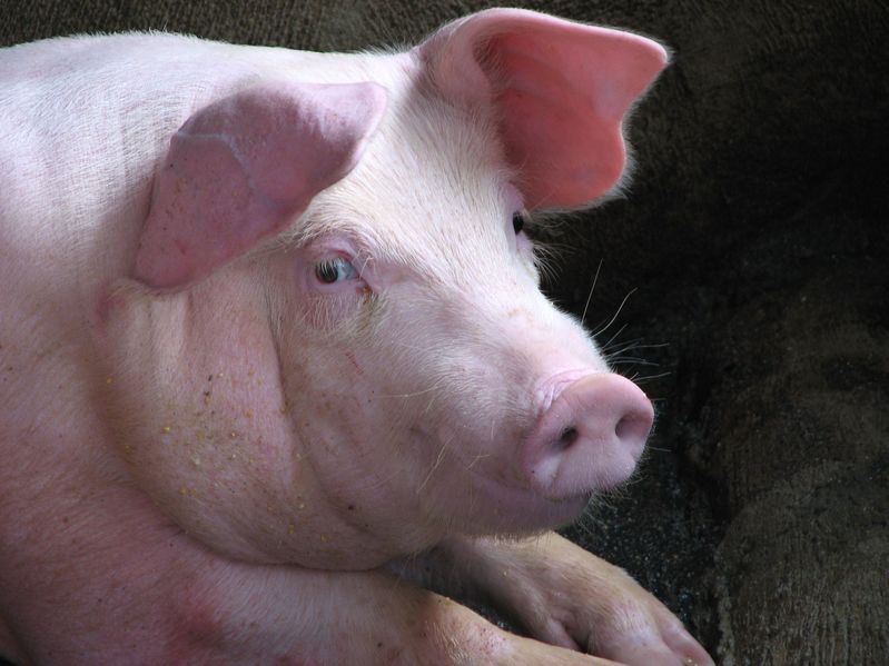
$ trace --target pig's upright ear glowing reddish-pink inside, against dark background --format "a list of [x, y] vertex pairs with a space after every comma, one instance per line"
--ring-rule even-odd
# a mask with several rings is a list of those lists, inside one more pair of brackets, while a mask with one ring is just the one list
[[626, 111], [666, 64], [643, 37], [517, 9], [451, 23], [419, 44], [434, 85], [494, 103], [529, 208], [571, 208], [619, 180]]

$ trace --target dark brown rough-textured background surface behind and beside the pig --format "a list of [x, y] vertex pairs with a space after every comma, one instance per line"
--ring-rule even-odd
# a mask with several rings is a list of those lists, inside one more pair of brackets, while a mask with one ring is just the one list
[[[658, 400], [648, 461], [570, 534], [725, 665], [889, 654], [889, 9], [885, 1], [522, 3], [636, 29], [674, 62], [632, 126], [629, 197], [541, 236], [551, 291]], [[357, 49], [483, 2], [7, 1], [0, 43], [167, 29]], [[622, 327], [626, 328], [622, 328]], [[621, 351], [622, 342], [640, 347]], [[618, 360], [620, 360], [620, 358]]]

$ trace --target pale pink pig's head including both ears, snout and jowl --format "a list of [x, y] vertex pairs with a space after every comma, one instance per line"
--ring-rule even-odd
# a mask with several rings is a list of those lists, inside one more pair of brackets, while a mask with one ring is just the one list
[[522, 226], [615, 185], [663, 49], [492, 10], [365, 58], [376, 82], [196, 112], [103, 306], [129, 474], [236, 556], [374, 566], [564, 523], [651, 427]]

